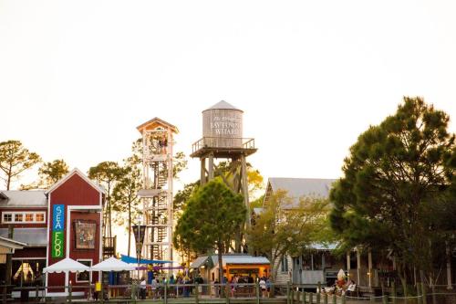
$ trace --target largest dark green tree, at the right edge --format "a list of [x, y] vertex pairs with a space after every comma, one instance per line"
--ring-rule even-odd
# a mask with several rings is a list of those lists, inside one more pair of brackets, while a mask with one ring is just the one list
[[330, 194], [331, 225], [346, 247], [388, 247], [400, 266], [431, 270], [438, 238], [456, 223], [449, 120], [421, 98], [404, 98], [358, 137]]

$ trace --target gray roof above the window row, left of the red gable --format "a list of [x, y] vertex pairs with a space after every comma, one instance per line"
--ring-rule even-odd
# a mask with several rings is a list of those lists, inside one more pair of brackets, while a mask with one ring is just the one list
[[[47, 207], [45, 190], [2, 190], [0, 197], [0, 207]], [[6, 196], [7, 199], [3, 197]]]

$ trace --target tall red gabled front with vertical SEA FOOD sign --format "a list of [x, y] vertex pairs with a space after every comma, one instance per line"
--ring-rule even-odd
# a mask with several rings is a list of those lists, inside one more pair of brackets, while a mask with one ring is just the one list
[[[47, 266], [70, 257], [90, 267], [102, 259], [102, 205], [104, 190], [86, 175], [73, 170], [48, 191]], [[98, 280], [98, 272], [47, 274], [48, 287], [67, 286], [75, 294]], [[54, 288], [48, 294], [65, 295], [64, 288]]]

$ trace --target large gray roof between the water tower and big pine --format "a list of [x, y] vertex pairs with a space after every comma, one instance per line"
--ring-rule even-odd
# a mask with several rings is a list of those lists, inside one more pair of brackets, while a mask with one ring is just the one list
[[269, 195], [277, 190], [285, 190], [287, 195], [293, 199], [293, 204], [299, 202], [301, 197], [329, 197], [329, 191], [336, 179], [324, 178], [287, 178], [287, 177], [270, 177], [267, 181], [266, 194], [264, 202]]

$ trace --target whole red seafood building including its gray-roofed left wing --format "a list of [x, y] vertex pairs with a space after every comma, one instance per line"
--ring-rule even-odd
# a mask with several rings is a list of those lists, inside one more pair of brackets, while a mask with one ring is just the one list
[[[44, 191], [0, 191], [2, 222], [0, 236], [8, 237], [12, 226], [13, 239], [26, 243], [13, 256], [13, 283], [35, 285], [44, 280], [47, 287], [78, 286], [98, 280], [98, 273], [47, 274], [43, 267], [65, 257], [88, 266], [102, 259], [102, 207], [104, 190], [74, 169]], [[63, 288], [49, 289], [50, 296], [63, 295]]]

